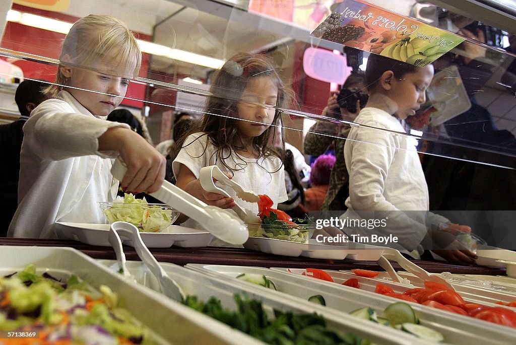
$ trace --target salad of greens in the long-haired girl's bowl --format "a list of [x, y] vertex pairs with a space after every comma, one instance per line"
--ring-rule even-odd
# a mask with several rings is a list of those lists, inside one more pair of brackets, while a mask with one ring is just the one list
[[249, 233], [249, 236], [307, 242], [313, 233], [314, 218], [307, 215], [303, 219], [295, 218], [292, 221], [292, 223], [285, 223], [278, 219], [278, 215], [274, 211], [270, 211], [269, 216], [263, 216], [259, 228], [251, 229], [253, 231]]

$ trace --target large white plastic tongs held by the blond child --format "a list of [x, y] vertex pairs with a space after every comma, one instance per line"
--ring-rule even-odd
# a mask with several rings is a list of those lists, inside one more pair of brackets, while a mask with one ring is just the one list
[[[127, 168], [120, 159], [113, 162], [111, 173], [115, 178], [122, 180], [126, 171]], [[249, 237], [247, 227], [238, 217], [222, 208], [206, 205], [168, 181], [164, 181], [162, 186], [150, 195], [196, 220], [208, 232], [225, 242], [242, 244]]]

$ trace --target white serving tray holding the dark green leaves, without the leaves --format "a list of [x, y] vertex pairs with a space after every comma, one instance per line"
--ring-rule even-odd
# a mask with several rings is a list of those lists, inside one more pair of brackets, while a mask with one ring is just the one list
[[[115, 264], [114, 260], [99, 261], [108, 267], [112, 267]], [[159, 289], [156, 279], [147, 271], [142, 262], [127, 261], [126, 264], [128, 270], [130, 270], [139, 283], [152, 289]], [[261, 300], [264, 310], [270, 315], [273, 313], [273, 308], [291, 310], [295, 313], [317, 313], [325, 318], [327, 325], [330, 327], [342, 332], [352, 332], [362, 337], [368, 337], [375, 344], [433, 344], [393, 328], [357, 319], [348, 314], [337, 314], [329, 308], [312, 302], [303, 301], [286, 294], [267, 291], [260, 286], [252, 284], [243, 286], [238, 282], [228, 281], [225, 277], [220, 278], [205, 272], [165, 262], [160, 262], [160, 265], [178, 283], [185, 294], [196, 295], [201, 301], [207, 301], [210, 297], [215, 296], [221, 301], [223, 306], [236, 309], [233, 295], [235, 293], [246, 293], [252, 299]], [[240, 345], [242, 344], [247, 345], [246, 342]]]

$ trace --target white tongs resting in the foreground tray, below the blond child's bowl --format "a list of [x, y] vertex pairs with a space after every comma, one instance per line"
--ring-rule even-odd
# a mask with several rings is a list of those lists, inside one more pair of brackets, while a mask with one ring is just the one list
[[175, 301], [181, 301], [185, 298], [185, 294], [181, 290], [181, 287], [176, 282], [174, 282], [174, 280], [167, 274], [167, 272], [165, 272], [161, 266], [159, 266], [159, 263], [154, 255], [152, 255], [147, 246], [143, 243], [138, 228], [127, 222], [114, 222], [109, 228], [109, 243], [111, 243], [115, 249], [118, 264], [124, 270], [124, 277], [132, 276], [125, 267], [125, 255], [122, 250], [122, 238], [133, 241], [136, 253], [140, 257], [143, 264], [145, 264], [152, 272], [152, 274], [157, 278], [163, 294]]

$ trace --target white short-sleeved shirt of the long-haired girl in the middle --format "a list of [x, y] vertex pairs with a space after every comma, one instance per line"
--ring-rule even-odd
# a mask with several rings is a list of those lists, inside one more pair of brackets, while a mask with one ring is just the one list
[[[233, 152], [233, 155], [225, 159], [225, 163], [234, 168], [233, 180], [236, 183], [256, 194], [267, 194], [274, 203], [272, 208], [277, 208], [278, 203], [288, 199], [285, 188], [285, 172], [278, 157], [245, 158]], [[232, 174], [222, 165], [221, 160], [217, 159], [217, 147], [202, 132], [192, 134], [186, 138], [181, 151], [172, 163], [175, 176], [179, 172], [180, 164], [190, 169], [196, 178], [199, 178], [201, 168], [211, 165], [216, 165], [223, 172]], [[239, 199], [231, 187], [223, 185], [219, 185], [219, 187], [228, 192], [239, 206], [258, 213], [257, 203], [249, 203]], [[193, 226], [193, 224], [188, 224], [188, 226]]]

